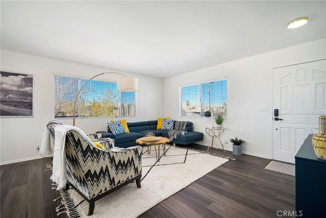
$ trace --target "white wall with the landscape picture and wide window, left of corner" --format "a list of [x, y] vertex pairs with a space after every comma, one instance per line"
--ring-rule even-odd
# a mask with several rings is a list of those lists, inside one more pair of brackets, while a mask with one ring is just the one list
[[[29, 160], [39, 157], [36, 146], [40, 144], [44, 126], [54, 118], [53, 75], [83, 77], [85, 79], [100, 72], [113, 71], [100, 67], [65, 62], [1, 50], [1, 70], [34, 75], [34, 117], [1, 117], [0, 164]], [[119, 72], [119, 71], [116, 71]], [[137, 116], [127, 117], [127, 122], [156, 119], [163, 115], [162, 79], [121, 72], [139, 80], [137, 93]], [[107, 74], [103, 79], [116, 80], [119, 76]], [[98, 77], [97, 79], [101, 79]], [[149, 104], [150, 100], [150, 104]], [[72, 119], [61, 119], [72, 125]], [[85, 133], [106, 130], [110, 118], [77, 118], [76, 126]]]

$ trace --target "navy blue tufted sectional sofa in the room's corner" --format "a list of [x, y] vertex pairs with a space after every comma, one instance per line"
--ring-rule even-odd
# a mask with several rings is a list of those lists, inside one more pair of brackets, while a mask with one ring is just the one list
[[[174, 122], [175, 124], [175, 122]], [[155, 136], [163, 136], [169, 138], [170, 130], [157, 130], [157, 120], [127, 123], [129, 133], [122, 133], [115, 135], [111, 132], [110, 128], [107, 128], [107, 132], [98, 131], [96, 133], [101, 133], [102, 138], [112, 138], [115, 140], [115, 146], [120, 148], [127, 148], [130, 146], [135, 146], [137, 143], [136, 139], [145, 136], [147, 133], [152, 132]], [[204, 134], [201, 132], [193, 131], [193, 123], [188, 122], [185, 128], [187, 131], [184, 135], [178, 135], [177, 138], [173, 139], [171, 143], [187, 145], [197, 141], [203, 140]]]

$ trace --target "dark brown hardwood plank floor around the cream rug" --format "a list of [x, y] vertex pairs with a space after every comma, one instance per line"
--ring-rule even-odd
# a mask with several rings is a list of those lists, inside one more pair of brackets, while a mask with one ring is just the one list
[[[207, 150], [198, 144], [191, 148]], [[279, 210], [295, 210], [295, 177], [264, 169], [270, 160], [233, 156], [220, 149], [210, 153], [236, 160], [214, 169], [140, 217], [280, 217]], [[49, 163], [50, 159], [42, 158], [1, 166], [2, 218], [58, 217], [55, 207], [61, 202], [53, 199], [60, 192], [51, 189], [51, 172], [45, 171]]]

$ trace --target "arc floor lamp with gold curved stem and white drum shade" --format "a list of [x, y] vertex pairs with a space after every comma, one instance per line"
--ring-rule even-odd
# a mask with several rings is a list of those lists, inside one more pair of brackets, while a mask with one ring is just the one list
[[103, 74], [117, 74], [117, 75], [123, 76], [122, 78], [118, 78], [118, 90], [119, 91], [126, 91], [126, 92], [138, 91], [138, 79], [137, 78], [127, 77], [127, 76], [125, 76], [123, 74], [120, 74], [119, 72], [102, 72], [101, 74], [95, 75], [94, 77], [89, 79], [82, 86], [82, 88], [79, 89], [79, 91], [78, 91], [78, 93], [76, 95], [75, 103], [73, 105], [73, 126], [75, 126], [76, 103], [77, 103], [78, 96], [79, 96], [80, 92], [86, 86], [86, 84], [88, 84], [91, 80], [93, 80], [95, 77], [98, 77], [98, 76], [103, 75]]

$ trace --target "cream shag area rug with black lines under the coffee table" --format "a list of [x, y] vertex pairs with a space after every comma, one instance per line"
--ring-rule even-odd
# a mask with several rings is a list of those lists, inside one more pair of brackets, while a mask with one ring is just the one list
[[163, 151], [160, 150], [161, 157], [157, 162], [154, 147], [148, 154], [147, 146], [144, 146], [141, 188], [137, 188], [133, 182], [110, 193], [95, 202], [92, 216], [87, 216], [88, 202], [76, 191], [69, 189], [68, 192], [78, 214], [75, 213], [76, 211], [67, 214], [70, 217], [91, 218], [138, 217], [159, 202], [229, 161], [223, 156], [218, 157], [200, 151], [174, 147], [170, 144], [166, 145], [166, 149], [166, 155], [162, 155]]

